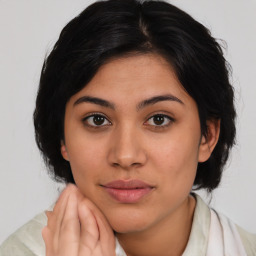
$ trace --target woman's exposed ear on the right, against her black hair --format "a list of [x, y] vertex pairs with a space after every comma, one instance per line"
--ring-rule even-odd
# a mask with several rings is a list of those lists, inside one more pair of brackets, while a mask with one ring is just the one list
[[220, 135], [220, 119], [211, 119], [206, 121], [207, 125], [207, 136], [202, 136], [199, 153], [198, 162], [205, 162], [209, 159], [214, 150]]

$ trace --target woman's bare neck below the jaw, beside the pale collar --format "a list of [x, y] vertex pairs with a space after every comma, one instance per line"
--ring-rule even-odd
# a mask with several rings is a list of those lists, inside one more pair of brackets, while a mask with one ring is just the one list
[[189, 240], [196, 201], [189, 196], [173, 213], [146, 230], [116, 234], [127, 256], [180, 256]]

